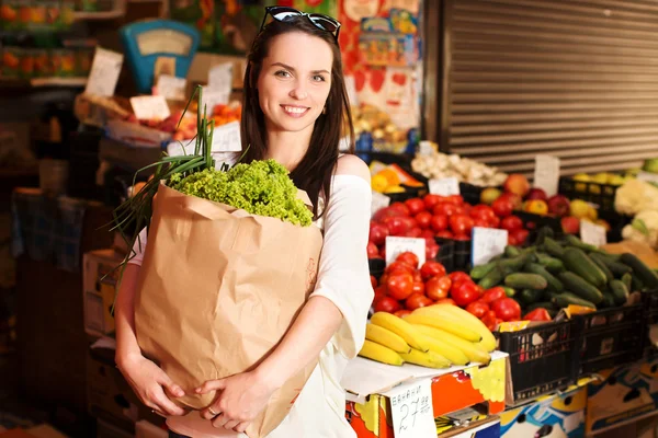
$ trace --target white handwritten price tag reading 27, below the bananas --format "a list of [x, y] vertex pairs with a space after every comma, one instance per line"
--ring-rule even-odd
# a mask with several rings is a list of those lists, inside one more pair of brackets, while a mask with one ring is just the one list
[[402, 384], [386, 395], [390, 400], [395, 438], [436, 437], [430, 379]]

